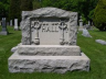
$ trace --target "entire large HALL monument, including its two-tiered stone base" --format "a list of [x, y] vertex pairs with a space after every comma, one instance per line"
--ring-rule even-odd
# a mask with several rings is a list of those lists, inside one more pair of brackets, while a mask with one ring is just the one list
[[89, 70], [89, 58], [76, 45], [77, 12], [22, 11], [21, 31], [22, 45], [8, 60], [10, 72]]

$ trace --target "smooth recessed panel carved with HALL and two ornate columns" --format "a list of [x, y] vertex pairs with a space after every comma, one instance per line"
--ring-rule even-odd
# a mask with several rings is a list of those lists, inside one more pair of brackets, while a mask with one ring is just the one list
[[68, 20], [31, 19], [31, 44], [68, 44]]

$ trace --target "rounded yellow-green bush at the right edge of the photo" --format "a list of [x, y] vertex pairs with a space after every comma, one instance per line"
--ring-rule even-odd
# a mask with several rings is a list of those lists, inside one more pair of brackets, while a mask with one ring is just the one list
[[100, 31], [106, 31], [106, 0], [99, 0], [94, 13], [94, 24]]

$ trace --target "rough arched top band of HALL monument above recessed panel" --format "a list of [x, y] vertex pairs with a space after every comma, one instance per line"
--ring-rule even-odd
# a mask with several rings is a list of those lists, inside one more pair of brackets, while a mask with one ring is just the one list
[[74, 16], [73, 14], [77, 15], [77, 12], [65, 11], [65, 10], [62, 10], [62, 9], [51, 8], [51, 7], [41, 8], [41, 9], [38, 9], [38, 10], [33, 10], [33, 11], [22, 11], [23, 19], [28, 18], [28, 16], [32, 16], [32, 15], [34, 18], [55, 16], [55, 18], [67, 18], [67, 19], [70, 19], [71, 16]]

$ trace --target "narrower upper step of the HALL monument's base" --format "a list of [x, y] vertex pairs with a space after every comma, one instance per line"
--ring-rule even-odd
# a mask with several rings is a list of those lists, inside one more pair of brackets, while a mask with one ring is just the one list
[[20, 45], [18, 53], [29, 56], [80, 56], [81, 48], [78, 46], [61, 45]]

